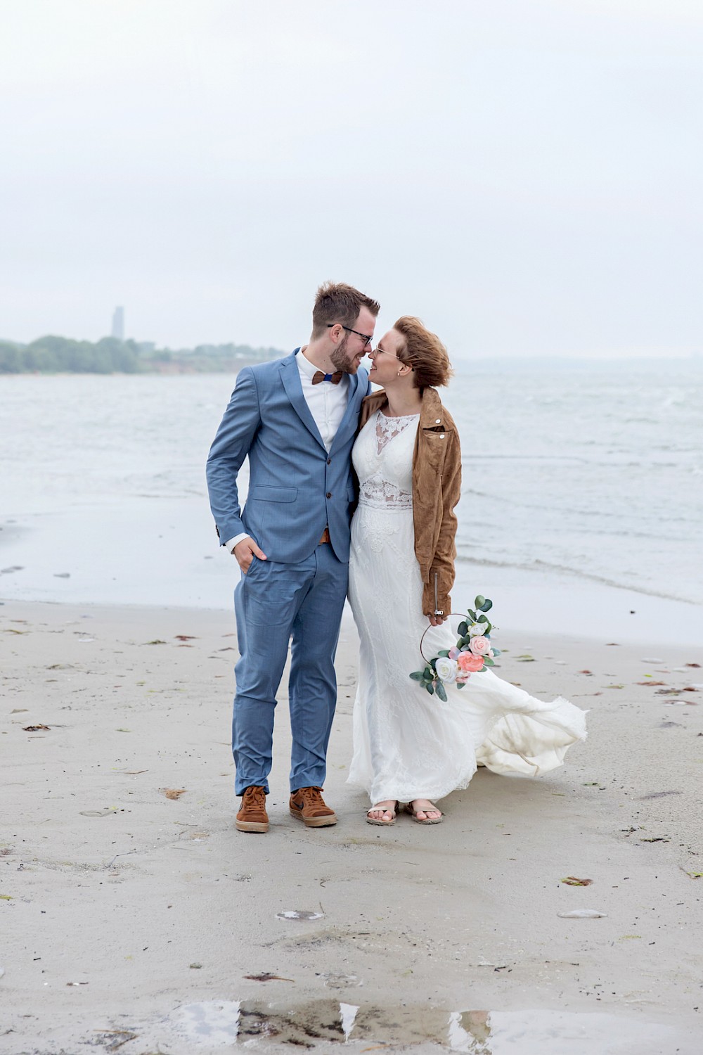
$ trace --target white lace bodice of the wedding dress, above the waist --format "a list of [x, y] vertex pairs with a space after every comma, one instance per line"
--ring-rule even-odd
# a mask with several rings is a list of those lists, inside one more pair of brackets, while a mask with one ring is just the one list
[[412, 509], [412, 452], [418, 414], [387, 418], [376, 410], [354, 444], [359, 505], [387, 511]]

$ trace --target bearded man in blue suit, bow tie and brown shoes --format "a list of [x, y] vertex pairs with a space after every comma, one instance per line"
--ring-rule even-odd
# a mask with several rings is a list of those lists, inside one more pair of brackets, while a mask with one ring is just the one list
[[[347, 594], [351, 448], [370, 388], [358, 367], [378, 310], [353, 286], [320, 286], [310, 343], [239, 371], [208, 458], [220, 542], [241, 569], [234, 594], [240, 658], [232, 721], [239, 831], [269, 828], [273, 718], [291, 638], [289, 808], [308, 827], [336, 824], [321, 791]], [[249, 493], [241, 510], [237, 478], [247, 457]]]

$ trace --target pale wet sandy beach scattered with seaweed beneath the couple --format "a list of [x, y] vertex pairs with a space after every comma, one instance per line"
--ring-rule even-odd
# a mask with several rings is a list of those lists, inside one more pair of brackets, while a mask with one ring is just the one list
[[588, 741], [541, 779], [480, 770], [441, 826], [378, 829], [345, 783], [348, 619], [339, 823], [289, 817], [284, 685], [271, 828], [248, 836], [232, 616], [9, 602], [0, 631], [7, 1055], [700, 1052], [700, 649], [502, 634], [501, 676], [588, 709]]

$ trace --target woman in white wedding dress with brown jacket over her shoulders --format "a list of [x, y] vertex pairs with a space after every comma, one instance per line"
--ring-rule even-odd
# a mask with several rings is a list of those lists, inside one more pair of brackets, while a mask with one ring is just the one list
[[491, 671], [474, 672], [447, 701], [410, 672], [456, 636], [454, 505], [461, 494], [456, 427], [436, 386], [451, 375], [444, 345], [404, 315], [371, 352], [380, 391], [362, 405], [353, 450], [359, 501], [352, 520], [349, 599], [360, 638], [349, 783], [371, 799], [370, 824], [394, 823], [399, 803], [419, 824], [440, 824], [433, 800], [468, 786], [476, 764], [535, 775], [560, 766], [586, 736], [584, 712], [542, 703]]

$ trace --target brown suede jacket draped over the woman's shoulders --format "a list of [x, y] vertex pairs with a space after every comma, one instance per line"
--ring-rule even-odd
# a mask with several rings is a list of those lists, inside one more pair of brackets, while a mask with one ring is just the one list
[[[388, 403], [382, 388], [362, 403], [359, 429]], [[462, 450], [456, 426], [436, 388], [423, 389], [417, 438], [412, 456], [412, 511], [415, 556], [423, 576], [423, 612], [451, 612], [456, 516], [462, 493]]]

